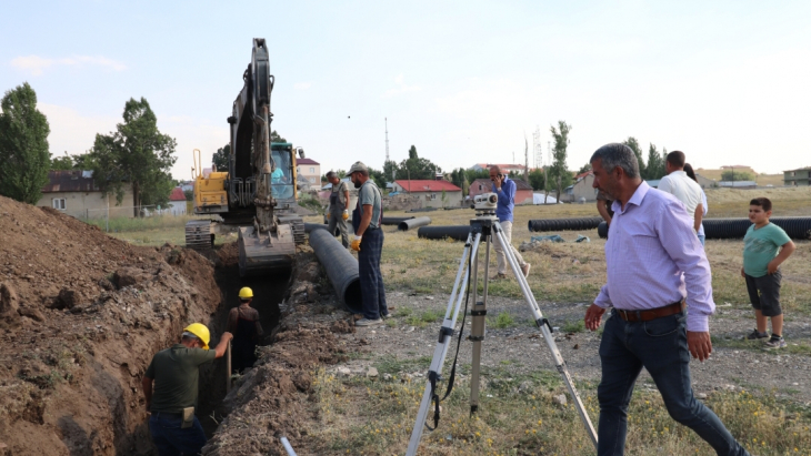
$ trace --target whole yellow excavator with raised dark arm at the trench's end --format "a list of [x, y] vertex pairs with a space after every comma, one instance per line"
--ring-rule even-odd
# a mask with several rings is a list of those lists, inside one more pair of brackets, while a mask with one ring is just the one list
[[296, 245], [304, 243], [304, 223], [297, 214], [296, 153], [290, 143], [271, 143], [270, 74], [267, 42], [253, 39], [251, 63], [242, 74], [244, 85], [233, 102], [228, 123], [231, 152], [228, 171], [201, 172], [200, 151], [194, 150], [194, 220], [186, 224], [186, 245], [210, 251], [221, 225], [239, 231], [240, 276], [289, 272]]

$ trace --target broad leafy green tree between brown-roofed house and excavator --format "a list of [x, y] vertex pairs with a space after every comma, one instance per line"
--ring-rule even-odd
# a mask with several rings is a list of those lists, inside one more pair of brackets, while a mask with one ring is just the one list
[[97, 134], [90, 152], [93, 175], [101, 191], [114, 193], [120, 204], [132, 185], [136, 216], [141, 205], [166, 204], [172, 189], [169, 169], [177, 141], [158, 130], [158, 118], [144, 98], [124, 104], [123, 123], [108, 135]]

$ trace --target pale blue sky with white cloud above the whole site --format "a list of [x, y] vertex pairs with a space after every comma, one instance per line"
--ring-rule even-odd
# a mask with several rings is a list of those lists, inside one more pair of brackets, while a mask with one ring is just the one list
[[[83, 153], [146, 98], [177, 140], [176, 179], [229, 142], [252, 39], [272, 128], [328, 170], [420, 156], [443, 170], [530, 165], [571, 125], [578, 170], [609, 142], [693, 168], [811, 165], [808, 1], [0, 0], [0, 90], [29, 82], [51, 153]], [[237, 3], [233, 3], [237, 4]], [[538, 163], [541, 164], [541, 163]]]

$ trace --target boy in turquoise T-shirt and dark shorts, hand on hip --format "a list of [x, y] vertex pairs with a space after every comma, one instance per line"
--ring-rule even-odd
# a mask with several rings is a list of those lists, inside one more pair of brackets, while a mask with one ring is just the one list
[[754, 307], [758, 327], [747, 338], [750, 341], [769, 337], [767, 320], [772, 320], [772, 336], [765, 348], [782, 348], [783, 312], [780, 308], [780, 264], [794, 252], [794, 243], [780, 226], [769, 223], [772, 202], [768, 197], [755, 197], [749, 202], [749, 220], [753, 223], [743, 237], [743, 267], [741, 275], [747, 280], [747, 291]]

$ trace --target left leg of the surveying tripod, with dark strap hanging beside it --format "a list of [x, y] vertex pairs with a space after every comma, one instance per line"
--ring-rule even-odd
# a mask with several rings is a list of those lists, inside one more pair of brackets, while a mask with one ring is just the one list
[[[471, 242], [472, 239], [472, 242]], [[459, 264], [459, 271], [457, 272], [457, 280], [453, 283], [453, 290], [451, 292], [451, 297], [448, 301], [448, 310], [445, 311], [445, 318], [442, 322], [442, 327], [440, 328], [439, 334], [439, 342], [437, 343], [437, 347], [433, 351], [433, 358], [431, 359], [431, 367], [428, 371], [428, 382], [425, 384], [425, 393], [422, 395], [422, 402], [420, 402], [420, 409], [417, 412], [417, 423], [414, 423], [414, 428], [411, 430], [411, 439], [409, 440], [409, 447], [406, 452], [406, 455], [413, 456], [417, 454], [417, 448], [420, 446], [420, 439], [422, 438], [422, 429], [425, 426], [425, 419], [428, 419], [428, 412], [431, 406], [431, 397], [434, 394], [433, 387], [432, 387], [432, 381], [433, 378], [434, 384], [439, 382], [441, 378], [440, 374], [442, 373], [442, 365], [444, 364], [444, 358], [448, 355], [448, 348], [451, 344], [451, 335], [453, 334], [453, 328], [457, 325], [457, 317], [459, 316], [459, 308], [462, 304], [462, 301], [464, 300], [464, 290], [468, 286], [468, 281], [470, 278], [470, 274], [463, 274], [465, 266], [467, 266], [467, 259], [468, 253], [472, 257], [475, 257], [477, 252], [479, 250], [479, 240], [481, 239], [481, 233], [477, 233], [475, 236], [473, 236], [473, 233], [468, 235], [468, 242], [464, 245], [464, 253], [462, 254], [462, 262]], [[455, 300], [455, 304], [454, 304]], [[461, 328], [460, 331], [463, 331], [464, 328]]]

